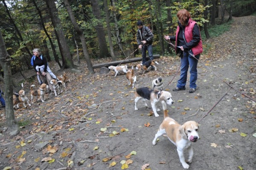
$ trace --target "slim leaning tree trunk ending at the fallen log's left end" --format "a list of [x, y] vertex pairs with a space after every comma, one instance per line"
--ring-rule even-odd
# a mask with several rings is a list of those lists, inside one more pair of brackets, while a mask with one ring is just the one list
[[79, 35], [79, 38], [81, 40], [81, 44], [82, 44], [82, 48], [83, 48], [83, 52], [84, 52], [84, 58], [87, 63], [88, 71], [90, 74], [94, 73], [93, 65], [90, 61], [90, 57], [89, 57], [88, 50], [87, 50], [86, 40], [84, 38], [84, 32], [79, 27], [78, 23], [76, 22], [76, 18], [72, 12], [72, 9], [70, 8], [70, 4], [69, 4], [68, 0], [64, 0], [64, 4], [65, 4], [67, 12], [70, 16], [71, 23], [73, 24], [73, 27], [74, 27], [75, 31], [77, 32], [77, 34]]

